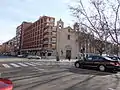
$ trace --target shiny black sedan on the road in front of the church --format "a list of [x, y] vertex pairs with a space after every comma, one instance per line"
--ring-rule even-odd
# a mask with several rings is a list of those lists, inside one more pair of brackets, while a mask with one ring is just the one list
[[120, 63], [106, 56], [91, 55], [84, 60], [78, 60], [75, 62], [75, 67], [96, 67], [100, 71], [117, 70]]

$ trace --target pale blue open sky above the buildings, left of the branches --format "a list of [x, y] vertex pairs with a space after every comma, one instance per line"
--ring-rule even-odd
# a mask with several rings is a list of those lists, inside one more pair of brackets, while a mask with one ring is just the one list
[[65, 26], [73, 24], [68, 5], [70, 0], [0, 0], [0, 44], [16, 35], [23, 21], [35, 22], [40, 16], [60, 18]]

